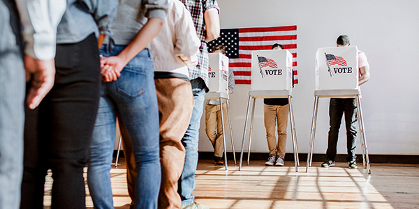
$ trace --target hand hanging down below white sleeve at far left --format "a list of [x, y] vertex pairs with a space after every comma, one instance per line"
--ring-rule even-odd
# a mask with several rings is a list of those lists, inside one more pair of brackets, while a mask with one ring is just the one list
[[24, 56], [26, 80], [31, 80], [31, 88], [27, 93], [29, 109], [35, 109], [45, 95], [54, 86], [55, 64], [54, 59], [42, 61], [29, 55]]

